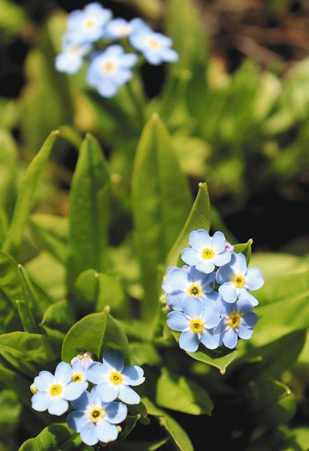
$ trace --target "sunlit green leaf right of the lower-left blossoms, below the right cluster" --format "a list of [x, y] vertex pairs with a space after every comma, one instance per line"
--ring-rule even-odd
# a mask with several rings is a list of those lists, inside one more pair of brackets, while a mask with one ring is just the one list
[[158, 378], [156, 404], [191, 415], [211, 415], [213, 411], [213, 402], [206, 390], [186, 376], [177, 376], [165, 368]]

